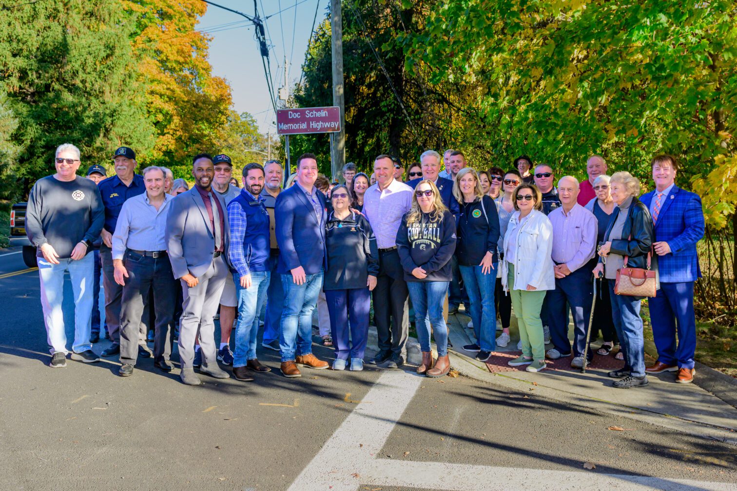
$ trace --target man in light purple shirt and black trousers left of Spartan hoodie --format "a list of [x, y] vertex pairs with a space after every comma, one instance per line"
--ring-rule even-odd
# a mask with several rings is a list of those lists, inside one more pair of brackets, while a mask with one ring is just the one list
[[379, 353], [369, 363], [399, 368], [405, 362], [409, 292], [397, 253], [397, 230], [402, 216], [412, 207], [412, 188], [394, 179], [394, 162], [389, 155], [374, 160], [374, 173], [377, 183], [363, 195], [363, 214], [374, 229], [379, 247], [379, 275], [371, 292]]

